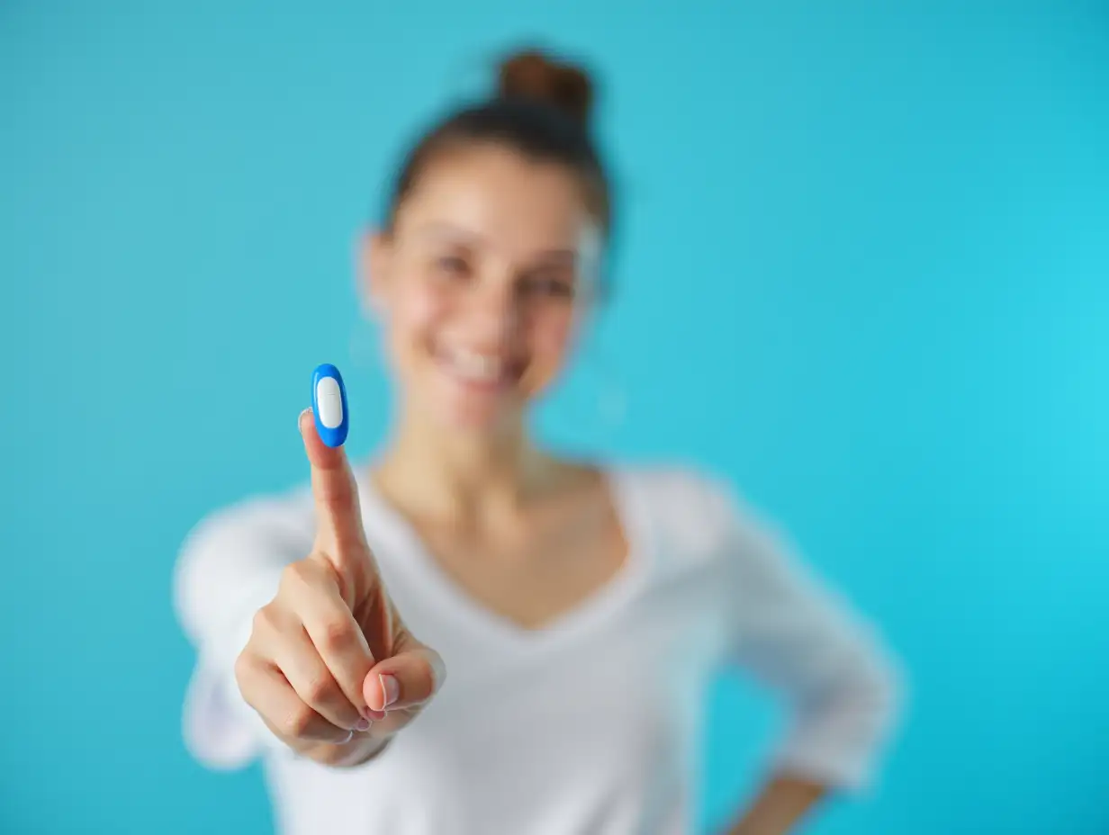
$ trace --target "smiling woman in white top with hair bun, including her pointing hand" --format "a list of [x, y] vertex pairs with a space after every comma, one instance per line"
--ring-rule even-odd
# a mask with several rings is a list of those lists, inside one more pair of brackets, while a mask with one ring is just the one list
[[722, 664], [795, 711], [733, 832], [787, 832], [875, 767], [885, 651], [751, 508], [529, 438], [604, 293], [590, 101], [582, 71], [525, 52], [418, 143], [363, 250], [391, 441], [352, 467], [306, 410], [311, 488], [212, 515], [180, 557], [190, 746], [264, 754], [285, 833], [685, 832]]

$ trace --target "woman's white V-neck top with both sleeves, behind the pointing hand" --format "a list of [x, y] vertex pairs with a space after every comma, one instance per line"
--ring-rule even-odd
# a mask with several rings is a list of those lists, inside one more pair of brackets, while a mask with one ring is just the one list
[[264, 756], [285, 835], [672, 835], [692, 823], [703, 693], [722, 664], [739, 664], [793, 707], [776, 765], [867, 785], [901, 682], [874, 632], [722, 482], [683, 468], [608, 475], [628, 561], [539, 631], [468, 597], [359, 476], [389, 594], [448, 674], [380, 756], [348, 770], [275, 740], [233, 673], [254, 612], [311, 549], [308, 488], [213, 513], [186, 541], [175, 583], [199, 652], [190, 750], [213, 767]]

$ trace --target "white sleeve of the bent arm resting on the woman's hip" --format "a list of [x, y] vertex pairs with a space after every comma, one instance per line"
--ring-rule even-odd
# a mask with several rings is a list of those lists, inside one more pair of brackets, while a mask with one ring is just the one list
[[731, 658], [790, 703], [777, 770], [846, 792], [869, 788], [899, 719], [898, 661], [773, 522], [726, 488], [710, 503], [724, 532]]

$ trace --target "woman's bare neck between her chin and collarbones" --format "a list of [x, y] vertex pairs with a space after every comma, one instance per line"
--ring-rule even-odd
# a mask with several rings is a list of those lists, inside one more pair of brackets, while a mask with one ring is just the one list
[[418, 408], [404, 408], [398, 417], [374, 479], [415, 515], [459, 520], [510, 511], [557, 475], [556, 462], [531, 442], [522, 420], [496, 431], [459, 432]]

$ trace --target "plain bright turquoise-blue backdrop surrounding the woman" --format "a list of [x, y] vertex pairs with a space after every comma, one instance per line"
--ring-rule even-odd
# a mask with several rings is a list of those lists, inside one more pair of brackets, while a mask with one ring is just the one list
[[[552, 6], [0, 7], [0, 831], [267, 829], [180, 741], [177, 544], [305, 478], [317, 363], [380, 439], [354, 235], [538, 34], [601, 73], [622, 224], [545, 430], [734, 478], [909, 672], [812, 832], [1109, 832], [1109, 10]], [[706, 706], [709, 827], [781, 717]]]

